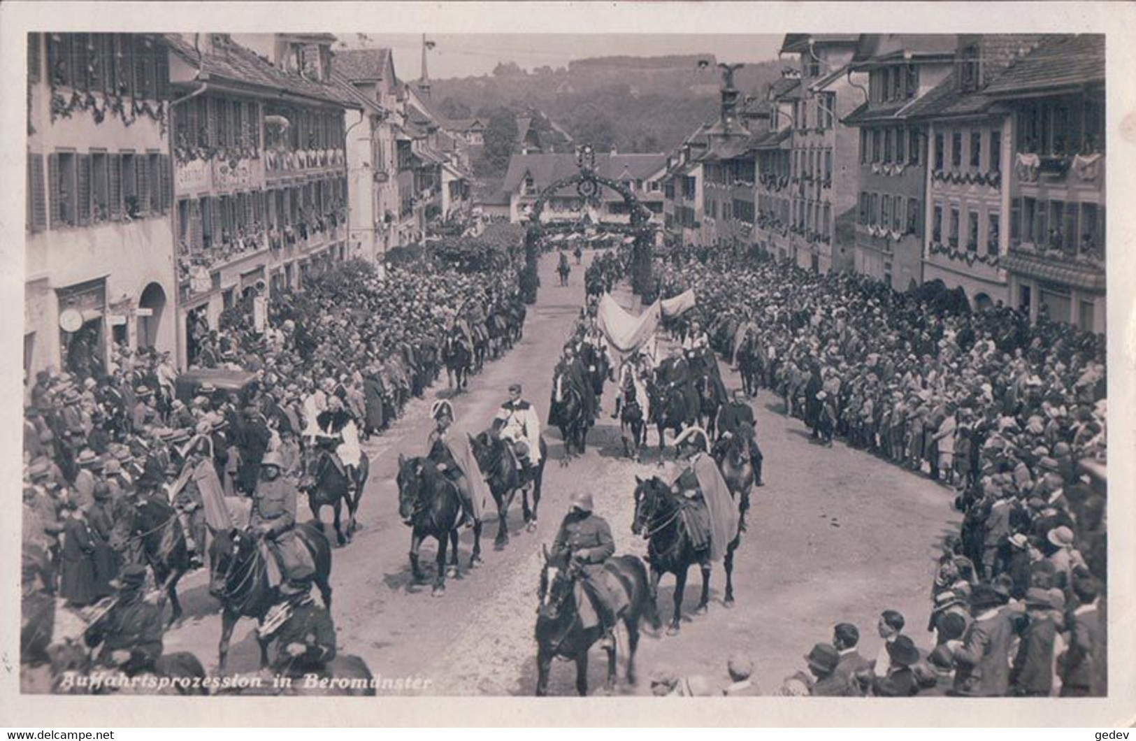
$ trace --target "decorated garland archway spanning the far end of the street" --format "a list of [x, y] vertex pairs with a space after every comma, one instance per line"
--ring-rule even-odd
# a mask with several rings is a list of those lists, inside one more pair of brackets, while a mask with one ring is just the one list
[[[540, 257], [544, 239], [550, 233], [573, 232], [579, 228], [579, 222], [560, 222], [545, 224], [541, 220], [544, 206], [550, 198], [559, 193], [565, 188], [575, 185], [576, 192], [584, 203], [599, 205], [602, 189], [608, 188], [618, 193], [627, 206], [629, 219], [627, 224], [608, 224], [596, 222], [596, 231], [611, 234], [625, 234], [633, 236], [635, 242], [632, 245], [632, 290], [644, 295], [652, 290], [651, 281], [651, 244], [654, 241], [654, 226], [651, 224], [651, 211], [629, 188], [619, 181], [604, 177], [595, 170], [595, 149], [591, 144], [585, 144], [576, 150], [576, 165], [579, 172], [568, 177], [560, 178], [543, 191], [533, 203], [528, 217], [528, 230], [525, 234], [526, 272], [532, 276], [536, 274], [536, 259]], [[533, 291], [535, 300], [535, 286]]]

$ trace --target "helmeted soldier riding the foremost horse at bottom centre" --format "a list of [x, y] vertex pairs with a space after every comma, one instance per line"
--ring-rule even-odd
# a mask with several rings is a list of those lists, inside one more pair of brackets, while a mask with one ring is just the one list
[[[552, 541], [551, 558], [562, 559], [569, 569], [577, 569], [580, 584], [587, 593], [595, 610], [595, 616], [588, 615], [586, 606], [577, 601], [580, 622], [584, 628], [599, 625], [603, 628], [601, 647], [615, 646], [615, 625], [619, 611], [626, 605], [626, 596], [620, 600], [620, 589], [612, 589], [608, 582], [604, 563], [616, 552], [616, 541], [611, 536], [608, 522], [595, 515], [592, 494], [579, 491], [573, 494], [568, 514], [560, 523], [556, 540]], [[588, 624], [591, 623], [591, 624]]]

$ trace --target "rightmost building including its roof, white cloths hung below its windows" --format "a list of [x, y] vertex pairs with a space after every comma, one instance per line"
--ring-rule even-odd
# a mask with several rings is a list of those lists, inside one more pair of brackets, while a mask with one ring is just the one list
[[1013, 126], [1009, 301], [1104, 332], [1104, 36], [1049, 38], [986, 94]]

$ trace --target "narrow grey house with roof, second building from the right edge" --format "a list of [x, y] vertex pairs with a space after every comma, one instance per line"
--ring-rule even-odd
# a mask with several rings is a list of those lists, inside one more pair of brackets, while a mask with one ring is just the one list
[[868, 75], [868, 100], [844, 123], [860, 131], [855, 270], [903, 291], [922, 283], [927, 134], [913, 116], [935, 105], [952, 73], [949, 34], [860, 38], [852, 67]]

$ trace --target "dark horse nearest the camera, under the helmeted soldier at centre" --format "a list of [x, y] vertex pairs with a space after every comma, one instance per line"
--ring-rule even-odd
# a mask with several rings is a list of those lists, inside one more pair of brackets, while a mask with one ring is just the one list
[[[635, 684], [635, 650], [638, 647], [640, 621], [648, 619], [653, 630], [661, 627], [646, 568], [636, 556], [616, 556], [608, 560], [605, 568], [615, 574], [627, 592], [628, 606], [619, 616], [627, 628], [627, 682]], [[552, 659], [562, 657], [576, 663], [576, 691], [587, 696], [587, 652], [600, 638], [603, 627], [580, 625], [576, 605], [577, 573], [567, 566], [565, 559], [553, 559], [544, 548], [544, 566], [541, 569], [538, 588], [540, 606], [536, 616], [536, 694], [544, 697], [549, 691], [549, 673]], [[616, 685], [616, 648], [608, 652], [607, 690]]]

